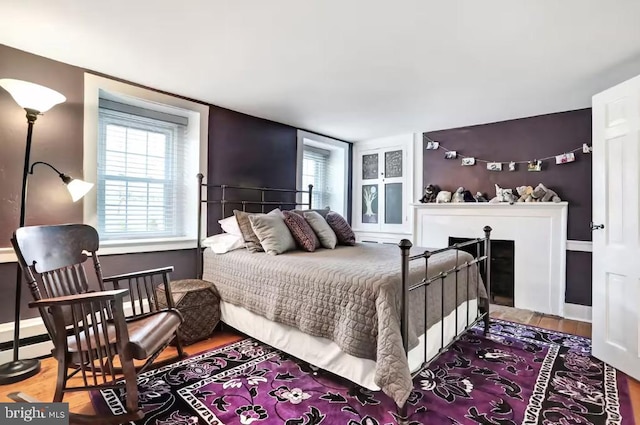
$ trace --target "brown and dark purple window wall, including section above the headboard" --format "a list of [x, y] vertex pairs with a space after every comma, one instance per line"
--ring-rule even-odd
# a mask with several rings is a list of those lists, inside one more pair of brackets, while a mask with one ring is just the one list
[[[35, 124], [31, 161], [45, 160], [72, 176], [82, 176], [83, 74], [85, 70], [0, 44], [0, 78], [16, 78], [59, 91], [67, 102]], [[209, 122], [211, 181], [226, 184], [295, 187], [296, 129], [211, 106]], [[18, 225], [20, 183], [27, 123], [11, 96], [0, 90], [0, 327], [13, 322], [17, 264], [10, 248]], [[46, 168], [29, 178], [27, 224], [82, 221], [82, 201], [72, 203], [57, 176]], [[215, 222], [217, 217], [212, 217]], [[195, 276], [195, 250], [147, 252], [101, 257], [105, 274], [173, 265], [173, 279]], [[22, 318], [38, 316], [22, 296]], [[1, 330], [1, 329], [0, 329]], [[2, 341], [0, 341], [1, 345]]]

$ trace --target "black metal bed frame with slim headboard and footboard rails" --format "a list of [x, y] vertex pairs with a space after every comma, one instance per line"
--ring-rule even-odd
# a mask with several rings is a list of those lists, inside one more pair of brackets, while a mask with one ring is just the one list
[[[272, 207], [280, 207], [282, 208], [283, 205], [286, 206], [308, 206], [309, 209], [311, 209], [311, 195], [313, 193], [313, 185], [309, 185], [309, 190], [297, 190], [297, 189], [274, 189], [274, 188], [266, 188], [266, 187], [247, 187], [247, 186], [233, 186], [233, 185], [216, 185], [216, 184], [208, 184], [208, 183], [203, 183], [203, 179], [204, 179], [204, 175], [202, 174], [198, 174], [198, 260], [197, 260], [197, 267], [198, 267], [198, 277], [202, 278], [202, 244], [201, 244], [201, 230], [202, 230], [202, 205], [203, 204], [220, 204], [222, 206], [222, 218], [225, 218], [226, 215], [226, 205], [227, 204], [236, 204], [236, 205], [242, 205], [242, 210], [246, 211], [246, 207], [247, 205], [259, 205], [261, 207], [261, 212], [265, 212], [265, 207], [267, 206], [272, 206]], [[219, 188], [221, 189], [221, 197], [219, 200], [208, 200], [208, 199], [203, 199], [202, 196], [202, 190], [208, 190], [209, 188]], [[260, 192], [260, 201], [250, 201], [250, 200], [229, 200], [227, 199], [227, 189], [239, 189], [239, 190], [249, 190], [249, 191], [257, 191]], [[309, 194], [309, 202], [305, 202], [305, 203], [301, 203], [301, 202], [279, 202], [279, 201], [266, 201], [265, 200], [265, 194], [268, 192], [279, 192], [279, 193], [293, 193], [293, 194], [301, 194], [301, 193], [308, 193]], [[207, 193], [208, 195], [208, 193]], [[465, 242], [461, 242], [461, 243], [456, 243], [453, 244], [451, 246], [445, 247], [445, 248], [441, 248], [441, 249], [437, 249], [437, 250], [433, 250], [433, 251], [424, 251], [422, 254], [417, 254], [417, 255], [410, 255], [410, 250], [411, 247], [413, 246], [411, 241], [409, 241], [408, 239], [402, 239], [400, 241], [400, 243], [398, 244], [398, 246], [400, 247], [400, 253], [401, 253], [401, 281], [402, 281], [402, 298], [401, 298], [401, 313], [400, 313], [400, 332], [402, 335], [402, 344], [403, 344], [403, 348], [405, 351], [405, 355], [409, 355], [409, 295], [411, 294], [411, 292], [424, 287], [424, 297], [425, 297], [425, 308], [424, 308], [424, 328], [423, 328], [423, 334], [425, 335], [425, 342], [424, 342], [424, 362], [420, 365], [420, 368], [418, 370], [416, 370], [415, 372], [413, 372], [411, 374], [412, 377], [415, 377], [418, 373], [420, 373], [421, 371], [423, 371], [425, 368], [429, 367], [429, 365], [431, 363], [433, 363], [439, 356], [440, 354], [444, 353], [445, 351], [447, 351], [451, 345], [453, 345], [456, 341], [458, 341], [458, 339], [464, 334], [466, 333], [469, 329], [471, 329], [472, 327], [474, 327], [476, 324], [478, 324], [480, 321], [484, 321], [484, 333], [488, 333], [489, 332], [489, 312], [490, 312], [490, 293], [491, 293], [491, 262], [490, 262], [490, 258], [491, 258], [491, 227], [489, 226], [485, 226], [483, 228], [484, 231], [484, 237], [483, 238], [476, 238], [476, 239], [470, 239], [468, 241]], [[460, 254], [460, 248], [464, 248], [466, 246], [470, 246], [476, 244], [476, 252], [478, 253], [478, 255], [472, 260], [472, 261], [465, 261], [463, 264], [458, 264], [458, 257]], [[481, 251], [480, 250], [480, 246], [481, 244], [484, 244], [484, 254], [480, 255]], [[429, 277], [428, 274], [428, 265], [429, 265], [429, 259], [431, 257], [433, 257], [436, 254], [441, 254], [447, 251], [455, 251], [456, 253], [456, 265], [452, 268], [450, 268], [449, 270], [443, 271], [435, 276]], [[424, 278], [418, 282], [418, 283], [414, 283], [411, 284], [410, 283], [410, 279], [409, 279], [409, 267], [410, 264], [414, 261], [419, 261], [419, 260], [424, 260]], [[480, 285], [482, 284], [482, 279], [480, 276], [480, 265], [481, 263], [484, 262], [485, 264], [485, 288], [486, 288], [486, 292], [487, 292], [487, 299], [486, 302], [481, 306], [480, 303], [478, 303], [477, 305], [477, 312], [476, 312], [476, 318], [473, 321], [469, 321], [469, 303], [467, 301], [467, 313], [465, 315], [465, 320], [466, 320], [466, 326], [465, 328], [458, 333], [458, 275], [461, 272], [466, 272], [466, 282], [467, 282], [467, 294], [469, 294], [469, 273], [470, 273], [470, 269], [473, 265], [476, 266], [476, 280], [477, 280], [477, 299], [480, 299]], [[444, 341], [444, 285], [445, 285], [445, 278], [447, 278], [450, 274], [455, 273], [454, 275], [454, 279], [455, 279], [455, 287], [456, 287], [456, 303], [455, 303], [455, 333], [456, 335], [454, 336], [454, 338], [448, 342], [447, 344], [445, 344]], [[440, 287], [441, 287], [441, 294], [442, 296], [441, 298], [441, 312], [440, 312], [440, 323], [441, 323], [441, 331], [440, 331], [440, 349], [438, 350], [437, 354], [435, 354], [434, 356], [432, 356], [430, 359], [427, 359], [427, 288], [434, 284], [435, 282], [440, 281]], [[468, 295], [467, 295], [468, 296]], [[398, 413], [400, 414], [401, 417], [406, 418], [406, 413], [407, 413], [407, 404], [405, 403], [402, 407], [400, 407], [398, 409]]]

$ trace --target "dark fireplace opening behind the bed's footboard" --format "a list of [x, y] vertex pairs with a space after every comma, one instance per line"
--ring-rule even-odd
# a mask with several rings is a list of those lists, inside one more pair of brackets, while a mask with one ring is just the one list
[[[472, 238], [456, 238], [449, 237], [449, 246], [467, 242]], [[477, 252], [478, 244], [472, 244], [460, 248], [469, 254], [477, 257], [484, 255], [484, 243], [480, 244], [480, 253]], [[515, 270], [514, 270], [514, 241], [508, 240], [491, 240], [491, 303], [513, 307], [514, 297], [513, 288], [515, 286]], [[485, 262], [480, 264], [480, 276], [486, 282]]]

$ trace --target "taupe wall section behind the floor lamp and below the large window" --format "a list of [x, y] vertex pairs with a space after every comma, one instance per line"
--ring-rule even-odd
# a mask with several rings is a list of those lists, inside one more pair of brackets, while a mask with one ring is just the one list
[[[0, 45], [0, 78], [15, 78], [50, 87], [67, 97], [38, 118], [33, 133], [31, 162], [46, 161], [71, 176], [82, 176], [83, 75], [85, 70]], [[20, 185], [27, 121], [25, 112], [0, 90], [0, 324], [13, 322], [17, 263], [10, 248], [19, 221]], [[36, 168], [29, 177], [28, 225], [82, 222], [82, 200], [73, 203], [56, 174]], [[105, 274], [172, 265], [174, 279], [195, 275], [195, 250], [104, 256]], [[38, 316], [29, 309], [31, 295], [23, 288], [22, 318]]]

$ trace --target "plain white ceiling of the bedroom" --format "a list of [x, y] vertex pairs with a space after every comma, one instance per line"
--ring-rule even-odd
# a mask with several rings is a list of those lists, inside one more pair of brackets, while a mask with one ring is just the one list
[[638, 0], [0, 0], [0, 43], [349, 141], [589, 107]]

